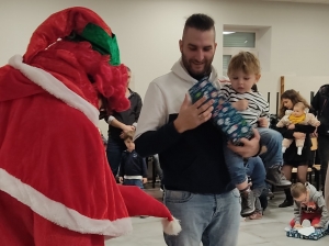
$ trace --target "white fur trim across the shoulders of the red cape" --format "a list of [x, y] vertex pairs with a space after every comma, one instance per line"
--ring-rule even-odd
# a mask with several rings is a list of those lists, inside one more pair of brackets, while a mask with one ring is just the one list
[[26, 78], [42, 87], [44, 90], [48, 91], [50, 94], [60, 99], [70, 107], [80, 110], [94, 125], [99, 124], [100, 112], [97, 108], [94, 108], [79, 94], [68, 89], [61, 81], [56, 79], [49, 72], [41, 68], [23, 64], [22, 60], [22, 56], [14, 55], [9, 59], [9, 65], [20, 70]]

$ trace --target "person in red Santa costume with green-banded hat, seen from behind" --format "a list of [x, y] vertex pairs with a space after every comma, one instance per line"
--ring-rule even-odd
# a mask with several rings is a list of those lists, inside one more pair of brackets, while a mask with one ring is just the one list
[[0, 68], [1, 245], [104, 245], [132, 230], [129, 215], [180, 231], [162, 203], [110, 171], [99, 101], [127, 109], [126, 81], [115, 35], [86, 8], [50, 15]]

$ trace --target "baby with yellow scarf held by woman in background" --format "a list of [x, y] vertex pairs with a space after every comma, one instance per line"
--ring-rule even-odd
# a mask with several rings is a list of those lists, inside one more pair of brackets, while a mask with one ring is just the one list
[[[319, 126], [320, 122], [315, 118], [313, 113], [307, 113], [308, 109], [303, 102], [297, 102], [294, 105], [294, 110], [286, 110], [285, 116], [276, 124], [276, 127], [286, 126], [288, 130], [295, 128], [295, 124]], [[282, 153], [285, 153], [294, 139], [283, 138]], [[297, 154], [302, 155], [302, 149], [305, 139], [296, 139]]]

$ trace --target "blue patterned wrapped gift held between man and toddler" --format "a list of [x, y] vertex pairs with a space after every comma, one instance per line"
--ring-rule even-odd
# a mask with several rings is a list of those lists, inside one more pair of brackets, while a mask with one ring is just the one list
[[197, 81], [190, 90], [192, 102], [196, 102], [202, 97], [214, 100], [212, 115], [213, 123], [235, 145], [240, 144], [240, 139], [253, 137], [250, 124], [232, 105], [220, 97], [219, 91], [207, 79]]

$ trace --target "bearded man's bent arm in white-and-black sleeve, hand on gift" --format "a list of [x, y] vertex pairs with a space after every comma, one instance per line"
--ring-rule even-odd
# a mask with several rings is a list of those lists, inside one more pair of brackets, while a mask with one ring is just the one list
[[202, 98], [194, 104], [185, 94], [178, 118], [167, 123], [168, 111], [160, 88], [151, 82], [144, 100], [136, 132], [136, 152], [143, 156], [160, 154], [180, 139], [181, 133], [193, 130], [212, 118], [214, 101]]

